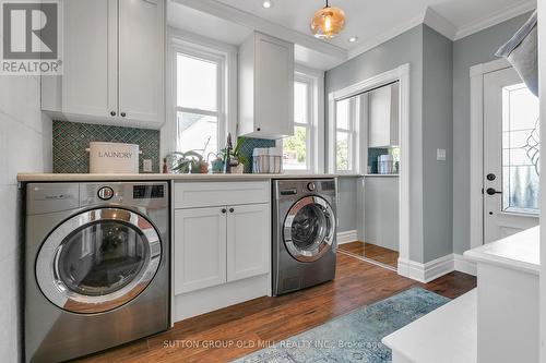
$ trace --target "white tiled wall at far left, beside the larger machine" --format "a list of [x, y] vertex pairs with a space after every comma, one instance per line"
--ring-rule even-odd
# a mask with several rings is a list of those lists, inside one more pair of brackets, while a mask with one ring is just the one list
[[40, 112], [39, 78], [0, 78], [0, 356], [2, 362], [20, 362], [24, 250], [16, 173], [51, 171], [51, 120]]

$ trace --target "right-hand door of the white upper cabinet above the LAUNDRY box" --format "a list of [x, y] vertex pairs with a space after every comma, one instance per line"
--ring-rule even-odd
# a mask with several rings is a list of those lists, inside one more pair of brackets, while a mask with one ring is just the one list
[[119, 1], [119, 114], [131, 121], [164, 122], [164, 4]]

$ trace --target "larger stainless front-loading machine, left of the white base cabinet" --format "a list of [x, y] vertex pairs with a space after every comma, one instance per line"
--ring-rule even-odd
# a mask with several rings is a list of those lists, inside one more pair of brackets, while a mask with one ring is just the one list
[[169, 327], [168, 183], [27, 184], [25, 238], [26, 361]]

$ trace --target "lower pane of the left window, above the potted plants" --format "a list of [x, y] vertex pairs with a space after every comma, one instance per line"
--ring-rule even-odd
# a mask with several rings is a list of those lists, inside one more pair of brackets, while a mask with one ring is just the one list
[[195, 150], [205, 159], [209, 153], [218, 153], [218, 120], [215, 117], [178, 112], [179, 152]]

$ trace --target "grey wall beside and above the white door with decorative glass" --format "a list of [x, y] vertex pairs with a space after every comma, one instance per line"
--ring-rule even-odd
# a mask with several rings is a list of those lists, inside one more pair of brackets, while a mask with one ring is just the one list
[[453, 43], [453, 252], [470, 249], [470, 68], [495, 60], [497, 49], [531, 15], [524, 14]]

